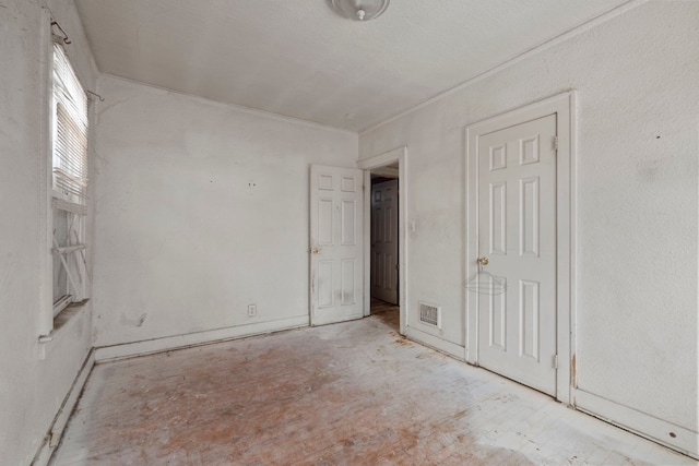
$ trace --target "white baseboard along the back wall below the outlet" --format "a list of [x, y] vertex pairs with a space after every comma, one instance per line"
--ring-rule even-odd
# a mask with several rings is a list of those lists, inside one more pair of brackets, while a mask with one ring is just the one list
[[308, 315], [280, 319], [270, 322], [259, 322], [248, 325], [216, 328], [204, 332], [188, 333], [185, 335], [165, 336], [162, 338], [145, 339], [141, 342], [125, 343], [96, 348], [95, 361], [106, 362], [118, 359], [133, 358], [137, 356], [152, 355], [155, 353], [188, 348], [190, 346], [208, 345], [227, 339], [242, 338], [246, 336], [262, 335], [283, 330], [308, 326]]

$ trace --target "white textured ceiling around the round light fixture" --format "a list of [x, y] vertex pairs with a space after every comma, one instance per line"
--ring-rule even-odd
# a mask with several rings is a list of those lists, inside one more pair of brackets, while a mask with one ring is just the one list
[[99, 70], [352, 131], [377, 124], [626, 0], [76, 0]]

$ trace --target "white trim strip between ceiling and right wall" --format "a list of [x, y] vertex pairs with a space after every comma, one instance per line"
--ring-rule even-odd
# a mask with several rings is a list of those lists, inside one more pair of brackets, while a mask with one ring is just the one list
[[406, 115], [410, 115], [410, 113], [412, 113], [414, 111], [417, 111], [423, 107], [427, 107], [428, 105], [434, 104], [435, 101], [438, 101], [438, 100], [441, 100], [443, 98], [447, 98], [448, 96], [450, 96], [452, 94], [455, 94], [455, 93], [458, 93], [460, 91], [465, 89], [466, 87], [471, 86], [472, 84], [476, 84], [476, 83], [478, 83], [478, 82], [481, 82], [483, 80], [486, 80], [486, 79], [493, 76], [494, 74], [499, 73], [502, 70], [507, 70], [508, 68], [513, 67], [514, 64], [517, 64], [517, 63], [519, 63], [521, 61], [524, 61], [524, 60], [535, 56], [536, 53], [540, 53], [540, 52], [542, 52], [544, 50], [547, 50], [547, 49], [549, 49], [549, 48], [552, 48], [554, 46], [557, 46], [558, 44], [561, 44], [561, 43], [564, 43], [564, 41], [566, 41], [566, 40], [579, 35], [579, 34], [584, 33], [585, 31], [589, 31], [589, 29], [591, 29], [593, 27], [599, 26], [602, 23], [605, 23], [605, 22], [607, 22], [609, 20], [613, 20], [616, 16], [619, 16], [620, 14], [624, 14], [624, 13], [628, 12], [631, 9], [640, 7], [641, 4], [643, 4], [643, 3], [648, 2], [648, 1], [650, 1], [650, 0], [629, 0], [626, 3], [620, 4], [619, 7], [616, 7], [616, 8], [612, 9], [612, 10], [605, 12], [605, 13], [600, 14], [596, 17], [593, 17], [593, 19], [591, 19], [589, 21], [585, 21], [582, 24], [579, 24], [578, 26], [572, 27], [571, 29], [568, 29], [568, 31], [566, 31], [566, 32], [564, 32], [564, 33], [561, 33], [561, 34], [559, 34], [559, 35], [557, 35], [557, 36], [555, 36], [555, 37], [553, 37], [553, 38], [550, 38], [548, 40], [545, 40], [544, 43], [540, 44], [538, 46], [535, 46], [535, 47], [533, 47], [533, 48], [531, 48], [531, 49], [529, 49], [529, 50], [526, 50], [526, 51], [524, 51], [524, 52], [522, 52], [522, 53], [520, 53], [520, 55], [518, 55], [516, 57], [512, 57], [511, 59], [506, 60], [502, 63], [500, 63], [500, 64], [498, 64], [496, 67], [493, 67], [489, 70], [484, 71], [481, 74], [476, 74], [475, 76], [469, 79], [467, 81], [464, 81], [463, 83], [461, 83], [461, 84], [459, 84], [459, 85], [457, 85], [457, 86], [454, 86], [454, 87], [452, 87], [450, 89], [441, 92], [441, 93], [437, 94], [436, 96], [430, 97], [427, 100], [422, 101], [420, 104], [417, 104], [414, 107], [408, 108], [407, 110], [403, 110], [403, 111], [401, 111], [401, 112], [399, 112], [399, 113], [396, 113], [396, 115], [394, 115], [394, 116], [392, 116], [392, 117], [390, 117], [390, 118], [388, 118], [386, 120], [382, 120], [379, 123], [372, 124], [370, 127], [366, 127], [366, 128], [359, 130], [359, 134], [364, 134], [366, 132], [379, 129], [379, 128], [381, 128], [381, 127], [383, 127], [386, 124], [389, 124], [389, 123], [391, 123], [391, 122], [393, 122], [393, 121], [395, 121], [398, 119], [401, 119], [401, 118], [405, 117]]

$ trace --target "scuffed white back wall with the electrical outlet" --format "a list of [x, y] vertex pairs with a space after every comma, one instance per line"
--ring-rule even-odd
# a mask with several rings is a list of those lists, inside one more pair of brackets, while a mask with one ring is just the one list
[[307, 324], [309, 165], [353, 166], [357, 134], [110, 76], [99, 89], [95, 345]]

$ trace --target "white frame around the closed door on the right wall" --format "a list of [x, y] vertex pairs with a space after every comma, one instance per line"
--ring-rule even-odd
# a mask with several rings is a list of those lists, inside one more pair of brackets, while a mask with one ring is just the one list
[[[473, 123], [466, 128], [466, 262], [465, 276], [477, 272], [478, 254], [478, 136], [556, 113], [556, 399], [571, 404], [574, 380], [574, 92]], [[467, 279], [467, 278], [466, 278]], [[478, 365], [477, 297], [465, 291], [466, 346], [464, 358]]]

